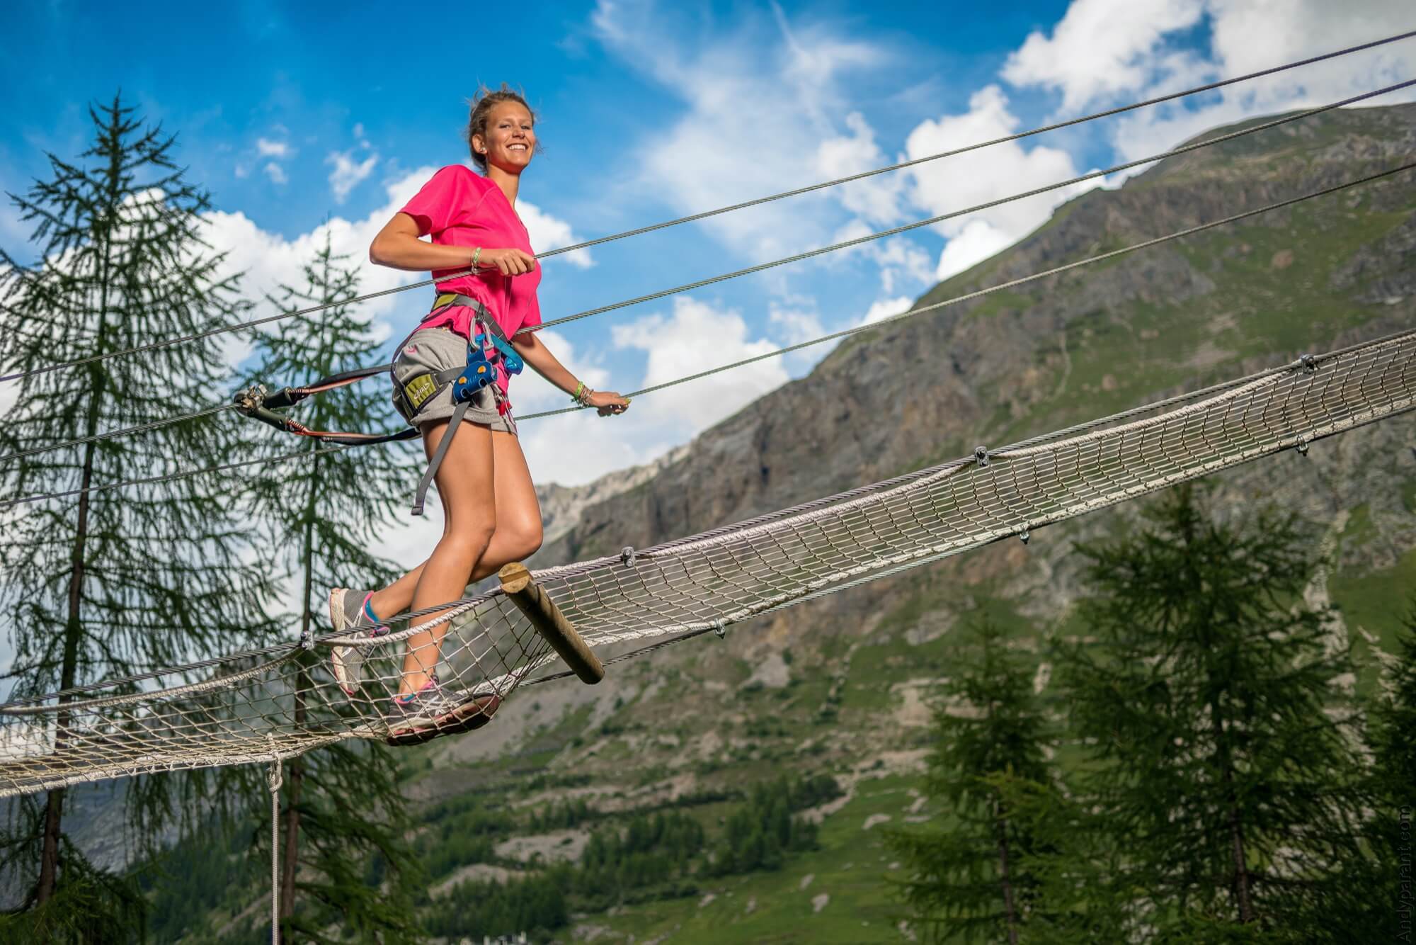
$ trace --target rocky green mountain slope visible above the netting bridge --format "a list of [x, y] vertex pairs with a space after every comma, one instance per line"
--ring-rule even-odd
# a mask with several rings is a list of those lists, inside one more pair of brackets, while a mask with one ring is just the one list
[[[1163, 162], [1059, 208], [929, 305], [1396, 166], [1416, 106], [1338, 112]], [[539, 561], [646, 545], [1410, 323], [1412, 174], [858, 336], [807, 381], [590, 503]], [[646, 404], [649, 409], [651, 404]]]

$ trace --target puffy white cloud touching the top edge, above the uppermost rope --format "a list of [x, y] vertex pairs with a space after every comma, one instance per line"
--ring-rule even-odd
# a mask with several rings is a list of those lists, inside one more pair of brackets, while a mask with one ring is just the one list
[[1165, 35], [1199, 23], [1204, 7], [1204, 0], [1073, 0], [1052, 35], [1028, 35], [1001, 75], [1059, 91], [1061, 111], [1075, 113], [1148, 85]]

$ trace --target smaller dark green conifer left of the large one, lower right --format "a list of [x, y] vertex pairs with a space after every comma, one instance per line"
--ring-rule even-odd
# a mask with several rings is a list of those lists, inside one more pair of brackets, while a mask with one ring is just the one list
[[935, 711], [935, 749], [926, 791], [946, 826], [895, 830], [888, 843], [903, 860], [910, 922], [932, 939], [1017, 945], [1035, 905], [1041, 853], [1027, 819], [1014, 816], [998, 776], [1046, 786], [1048, 724], [1032, 690], [1034, 667], [983, 619], [956, 647], [954, 670]]

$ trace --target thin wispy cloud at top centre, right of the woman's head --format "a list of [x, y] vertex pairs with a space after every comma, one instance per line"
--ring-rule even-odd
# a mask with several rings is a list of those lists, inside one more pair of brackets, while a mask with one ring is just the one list
[[[695, 213], [799, 187], [823, 142], [840, 136], [843, 79], [886, 61], [885, 50], [844, 40], [820, 27], [793, 28], [741, 17], [725, 35], [675, 35], [647, 3], [602, 0], [592, 26], [600, 41], [633, 68], [677, 95], [684, 113], [656, 128], [634, 174], [636, 198], [647, 193], [675, 213]], [[864, 120], [857, 146], [874, 147]], [[850, 143], [820, 160], [852, 160]], [[643, 183], [641, 183], [643, 181]], [[858, 194], [861, 205], [871, 200]], [[855, 200], [855, 197], [852, 197]], [[881, 208], [871, 213], [888, 213]], [[731, 252], [766, 259], [816, 245], [813, 234], [838, 225], [833, 197], [811, 194], [704, 221]]]

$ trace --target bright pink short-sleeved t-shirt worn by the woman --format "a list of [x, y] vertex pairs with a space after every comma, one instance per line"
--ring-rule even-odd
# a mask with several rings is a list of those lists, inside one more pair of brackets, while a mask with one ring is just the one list
[[[507, 196], [494, 181], [464, 164], [449, 164], [433, 174], [402, 213], [418, 221], [419, 237], [432, 234], [432, 241], [440, 247], [514, 247], [532, 252], [531, 237]], [[433, 269], [433, 278], [457, 269]], [[538, 285], [539, 264], [531, 272], [510, 278], [493, 266], [439, 282], [438, 292], [460, 292], [477, 299], [487, 306], [507, 337], [511, 337], [530, 324], [541, 324], [541, 305], [535, 298]], [[459, 305], [439, 312], [418, 327], [449, 327], [463, 337], [472, 337], [472, 319], [473, 310]], [[501, 390], [506, 391], [506, 371], [500, 374]]]

